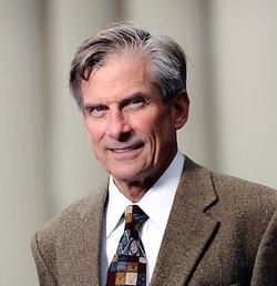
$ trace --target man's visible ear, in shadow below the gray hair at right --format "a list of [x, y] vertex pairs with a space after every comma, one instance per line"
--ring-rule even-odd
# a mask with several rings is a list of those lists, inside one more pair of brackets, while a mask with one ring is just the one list
[[188, 119], [189, 99], [185, 90], [172, 99], [172, 120], [176, 130], [183, 127]]

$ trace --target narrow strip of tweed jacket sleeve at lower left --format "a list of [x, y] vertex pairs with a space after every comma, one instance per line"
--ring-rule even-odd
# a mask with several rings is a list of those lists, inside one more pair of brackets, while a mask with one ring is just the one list
[[43, 259], [41, 251], [39, 248], [39, 241], [38, 241], [37, 234], [32, 238], [31, 248], [32, 248], [32, 254], [33, 254], [34, 262], [37, 265], [37, 272], [38, 272], [38, 276], [39, 276], [40, 286], [55, 286], [57, 284], [55, 284], [55, 282]]

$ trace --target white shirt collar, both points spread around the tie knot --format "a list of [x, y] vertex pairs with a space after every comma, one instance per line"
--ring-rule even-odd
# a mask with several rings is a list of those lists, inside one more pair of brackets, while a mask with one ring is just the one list
[[[177, 152], [167, 170], [137, 203], [150, 219], [162, 231], [165, 229], [171, 213], [184, 160], [184, 156]], [[112, 176], [110, 176], [109, 201], [106, 205], [106, 237], [117, 227], [122, 214], [131, 204], [133, 203], [119, 191]]]

